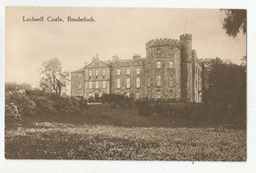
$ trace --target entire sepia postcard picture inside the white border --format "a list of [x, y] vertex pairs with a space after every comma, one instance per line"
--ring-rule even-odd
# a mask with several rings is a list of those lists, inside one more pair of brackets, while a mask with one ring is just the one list
[[246, 9], [5, 7], [6, 159], [247, 161]]

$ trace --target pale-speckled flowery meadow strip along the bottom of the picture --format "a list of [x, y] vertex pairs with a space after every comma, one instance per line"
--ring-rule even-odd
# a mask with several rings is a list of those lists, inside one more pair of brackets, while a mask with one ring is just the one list
[[6, 158], [245, 161], [244, 130], [35, 123], [6, 131]]

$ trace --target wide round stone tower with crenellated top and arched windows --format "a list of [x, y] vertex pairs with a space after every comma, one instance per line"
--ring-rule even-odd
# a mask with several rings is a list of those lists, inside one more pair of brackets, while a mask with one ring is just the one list
[[180, 42], [160, 38], [146, 43], [145, 95], [180, 98]]

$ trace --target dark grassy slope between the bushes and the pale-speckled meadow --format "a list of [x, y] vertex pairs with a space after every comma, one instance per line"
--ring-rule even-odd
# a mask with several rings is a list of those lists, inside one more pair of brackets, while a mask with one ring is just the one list
[[211, 121], [178, 119], [164, 115], [144, 117], [138, 115], [136, 108], [113, 109], [108, 104], [91, 105], [86, 108], [83, 115], [24, 117], [25, 126], [32, 122], [101, 124], [118, 127], [216, 127]]

